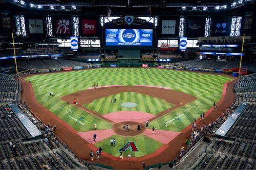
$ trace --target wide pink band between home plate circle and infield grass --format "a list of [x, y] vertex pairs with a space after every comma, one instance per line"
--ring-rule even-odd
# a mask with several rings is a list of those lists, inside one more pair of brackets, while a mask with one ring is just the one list
[[115, 123], [125, 122], [125, 121], [143, 123], [143, 122], [146, 122], [146, 120], [152, 119], [156, 116], [150, 113], [139, 112], [139, 111], [118, 111], [118, 112], [105, 114], [103, 115], [103, 117], [108, 118]]

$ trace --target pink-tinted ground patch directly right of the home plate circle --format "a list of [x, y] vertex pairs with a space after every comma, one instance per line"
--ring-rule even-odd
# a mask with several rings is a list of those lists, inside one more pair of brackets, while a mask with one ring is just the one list
[[160, 141], [161, 143], [168, 144], [170, 141], [176, 138], [180, 132], [155, 130], [155, 134], [152, 134], [152, 129], [146, 129], [143, 134]]

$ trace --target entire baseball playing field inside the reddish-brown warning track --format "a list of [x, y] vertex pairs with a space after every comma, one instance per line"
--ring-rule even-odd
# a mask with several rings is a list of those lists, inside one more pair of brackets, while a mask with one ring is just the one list
[[[33, 75], [25, 80], [31, 81], [35, 99], [84, 140], [96, 147], [101, 145], [104, 152], [113, 156], [133, 141], [138, 151], [128, 148], [124, 156], [141, 157], [163, 147], [217, 103], [224, 84], [232, 78], [204, 73], [200, 77], [197, 72], [158, 68], [100, 68]], [[94, 87], [97, 83], [98, 87]], [[111, 102], [115, 98], [116, 102]], [[73, 105], [74, 99], [77, 105]], [[134, 135], [113, 129], [117, 123], [130, 119], [141, 125], [149, 120], [149, 129], [141, 129], [140, 133], [133, 129]], [[155, 136], [150, 130], [153, 127]], [[94, 133], [97, 142], [92, 141]], [[111, 138], [116, 138], [116, 147], [110, 147]]]

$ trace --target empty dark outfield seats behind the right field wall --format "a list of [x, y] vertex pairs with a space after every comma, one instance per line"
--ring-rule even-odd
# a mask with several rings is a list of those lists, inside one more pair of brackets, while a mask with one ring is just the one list
[[[181, 67], [196, 67], [196, 68], [207, 68], [207, 69], [230, 69], [238, 68], [240, 66], [239, 61], [222, 61], [222, 60], [188, 60], [172, 63], [176, 66]], [[256, 62], [242, 62], [242, 67], [247, 68], [249, 71], [256, 71]]]

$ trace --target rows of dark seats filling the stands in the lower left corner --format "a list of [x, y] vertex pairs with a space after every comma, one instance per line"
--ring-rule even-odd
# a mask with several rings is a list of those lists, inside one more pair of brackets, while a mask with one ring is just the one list
[[33, 118], [25, 106], [19, 105], [19, 108], [48, 140], [25, 140], [32, 137], [30, 133], [13, 110], [1, 105], [0, 169], [93, 169], [87, 162], [78, 161], [51, 129]]

